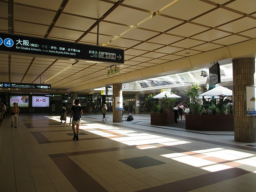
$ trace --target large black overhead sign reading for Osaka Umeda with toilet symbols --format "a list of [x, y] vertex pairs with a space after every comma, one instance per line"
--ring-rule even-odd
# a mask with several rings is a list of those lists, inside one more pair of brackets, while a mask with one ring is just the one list
[[0, 33], [0, 53], [5, 52], [124, 64], [123, 49]]

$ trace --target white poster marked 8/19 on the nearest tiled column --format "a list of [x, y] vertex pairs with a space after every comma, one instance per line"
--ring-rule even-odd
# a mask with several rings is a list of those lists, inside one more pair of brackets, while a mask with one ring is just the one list
[[256, 115], [256, 87], [251, 85], [251, 86], [246, 86], [245, 90], [245, 115], [251, 116], [251, 115]]

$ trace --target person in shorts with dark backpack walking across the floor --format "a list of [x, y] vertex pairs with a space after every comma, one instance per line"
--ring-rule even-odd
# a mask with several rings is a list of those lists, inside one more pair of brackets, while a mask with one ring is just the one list
[[74, 103], [75, 105], [73, 105], [71, 108], [70, 122], [72, 119], [72, 130], [74, 132], [73, 139], [79, 140], [79, 126], [81, 124], [81, 115], [83, 115], [83, 110], [82, 107], [79, 105], [80, 101], [78, 99], [76, 99]]

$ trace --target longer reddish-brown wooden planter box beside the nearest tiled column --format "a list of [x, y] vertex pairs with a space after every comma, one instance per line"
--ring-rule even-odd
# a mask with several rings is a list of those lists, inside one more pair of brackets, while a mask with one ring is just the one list
[[186, 114], [186, 129], [197, 131], [234, 131], [233, 115]]

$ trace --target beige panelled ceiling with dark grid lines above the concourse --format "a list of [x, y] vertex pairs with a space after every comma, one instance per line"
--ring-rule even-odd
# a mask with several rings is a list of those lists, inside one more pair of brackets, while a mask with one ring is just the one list
[[2, 82], [83, 91], [256, 52], [255, 0], [14, 0], [13, 10], [0, 0], [0, 32], [93, 45], [99, 19], [99, 45], [124, 49], [125, 62], [108, 76], [109, 64], [0, 53]]

